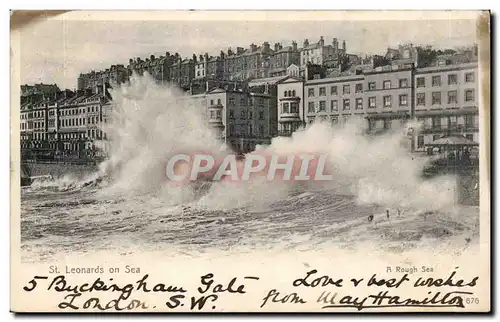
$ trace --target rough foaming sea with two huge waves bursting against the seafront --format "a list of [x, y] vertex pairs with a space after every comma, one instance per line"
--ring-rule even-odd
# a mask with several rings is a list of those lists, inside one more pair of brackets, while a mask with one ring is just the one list
[[453, 176], [422, 178], [428, 159], [404, 147], [406, 128], [367, 137], [359, 120], [339, 127], [319, 122], [256, 149], [327, 153], [329, 182], [172, 186], [161, 175], [169, 156], [227, 150], [204, 111], [147, 75], [111, 95], [112, 121], [104, 129], [110, 157], [99, 170], [22, 188], [23, 262], [156, 251], [196, 257], [213, 249], [461, 252], [478, 243], [479, 207], [456, 202]]

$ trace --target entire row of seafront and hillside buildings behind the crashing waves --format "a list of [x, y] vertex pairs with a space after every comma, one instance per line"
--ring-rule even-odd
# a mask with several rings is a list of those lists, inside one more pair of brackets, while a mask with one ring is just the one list
[[440, 52], [409, 44], [360, 57], [347, 53], [345, 41], [326, 44], [323, 37], [302, 48], [264, 42], [218, 56], [131, 58], [126, 66], [80, 74], [74, 91], [23, 85], [21, 147], [95, 155], [96, 141], [106, 139], [109, 88], [146, 72], [191, 95], [218, 136], [240, 152], [316, 120], [342, 126], [350, 117], [365, 119], [373, 135], [417, 119], [415, 151], [448, 134], [477, 142], [477, 67], [476, 47]]

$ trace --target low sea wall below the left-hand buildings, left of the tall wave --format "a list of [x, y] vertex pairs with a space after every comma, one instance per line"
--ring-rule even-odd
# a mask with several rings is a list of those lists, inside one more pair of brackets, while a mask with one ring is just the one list
[[32, 177], [51, 175], [53, 178], [61, 178], [66, 175], [84, 178], [98, 170], [96, 165], [63, 163], [30, 163], [29, 168]]

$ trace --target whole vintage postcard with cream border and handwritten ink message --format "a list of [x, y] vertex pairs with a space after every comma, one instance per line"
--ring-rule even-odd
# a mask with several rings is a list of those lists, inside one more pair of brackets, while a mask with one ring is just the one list
[[11, 15], [13, 312], [489, 312], [488, 11]]

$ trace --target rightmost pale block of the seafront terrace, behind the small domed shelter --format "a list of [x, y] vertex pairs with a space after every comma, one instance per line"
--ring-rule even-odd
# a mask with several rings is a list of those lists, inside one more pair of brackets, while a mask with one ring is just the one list
[[415, 116], [422, 124], [415, 147], [443, 134], [479, 142], [477, 63], [419, 68], [415, 72]]

